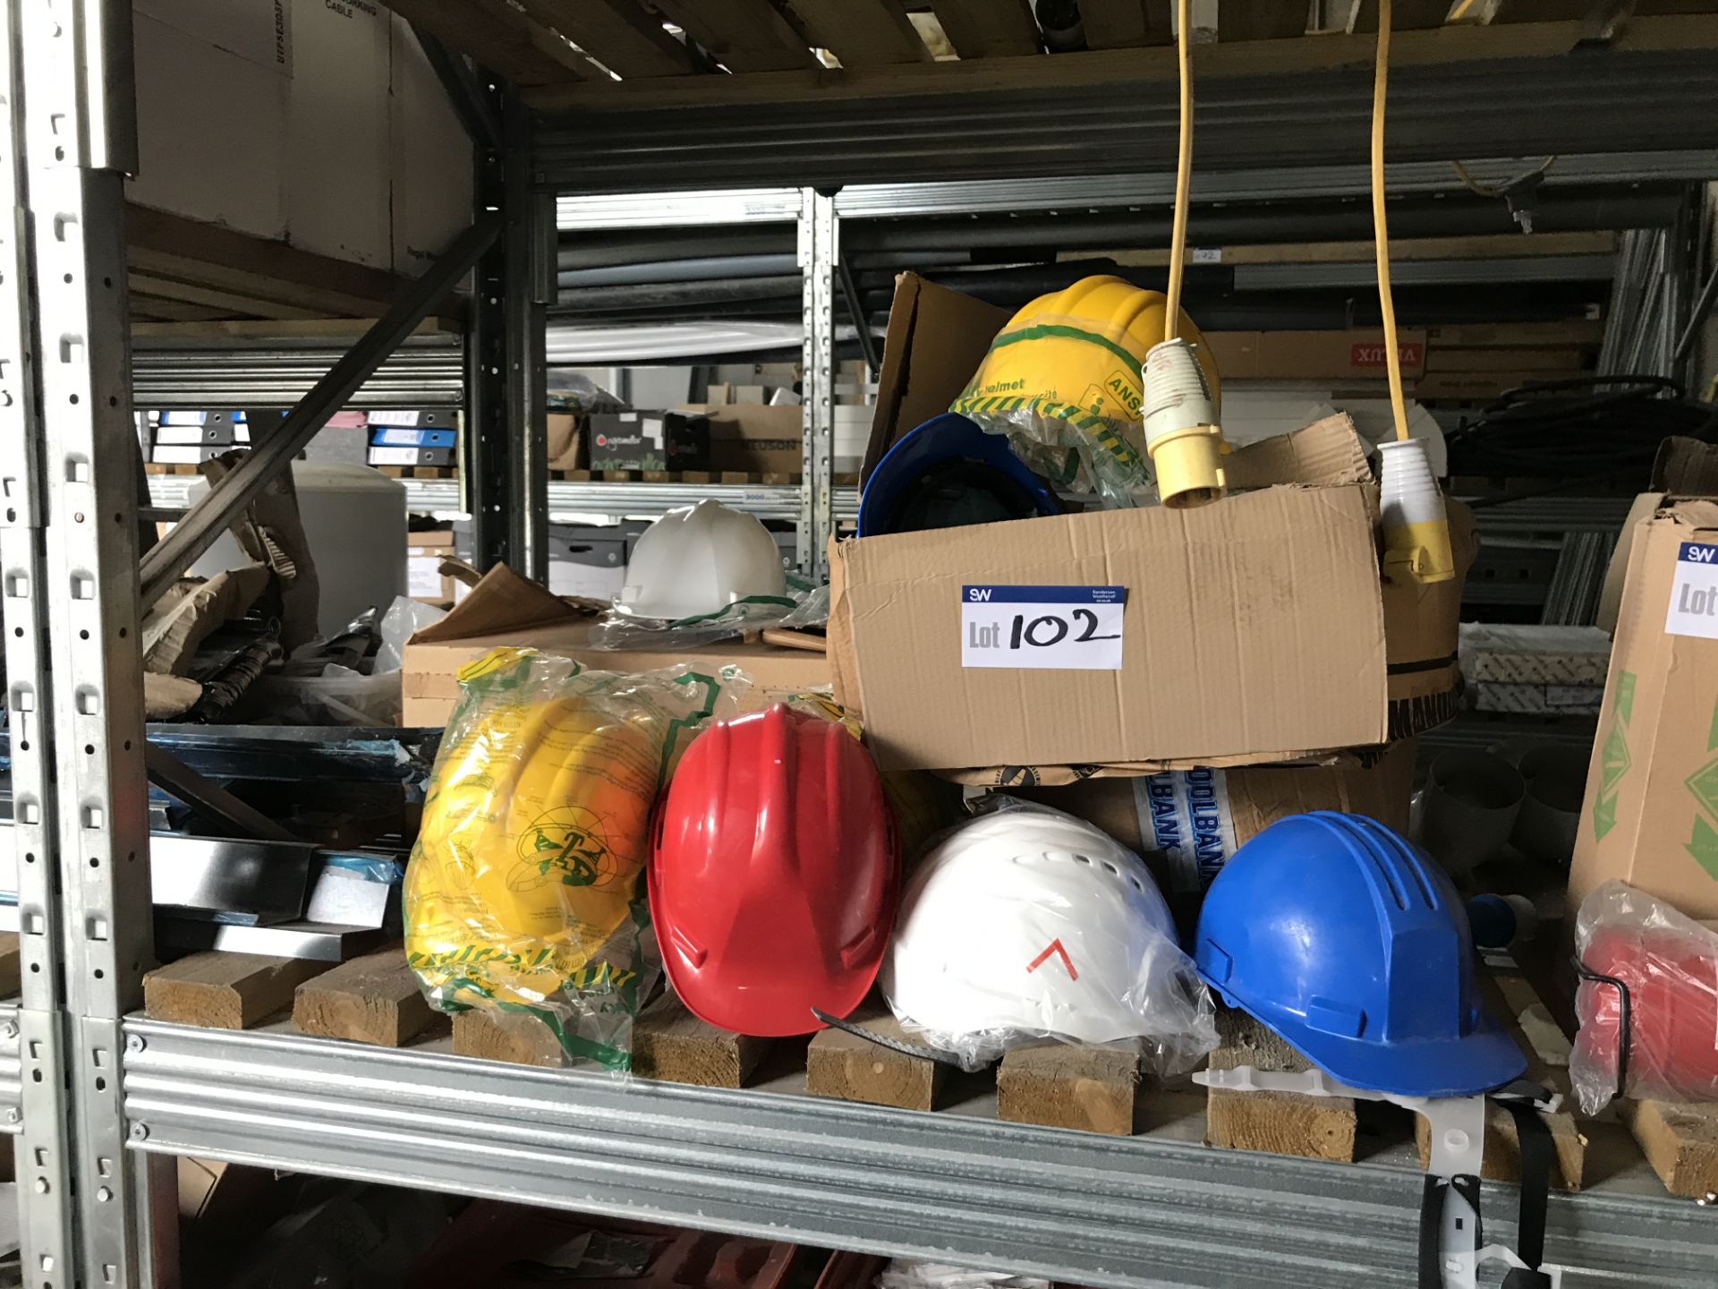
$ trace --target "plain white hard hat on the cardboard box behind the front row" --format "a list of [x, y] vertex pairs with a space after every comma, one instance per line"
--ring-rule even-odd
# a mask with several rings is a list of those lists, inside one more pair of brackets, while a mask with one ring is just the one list
[[763, 521], [722, 502], [670, 510], [644, 529], [615, 608], [677, 620], [751, 596], [785, 598], [782, 552]]

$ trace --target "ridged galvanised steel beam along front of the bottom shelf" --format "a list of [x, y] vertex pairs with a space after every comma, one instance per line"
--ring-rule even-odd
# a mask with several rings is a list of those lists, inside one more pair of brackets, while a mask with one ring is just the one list
[[[857, 1251], [935, 1256], [1115, 1289], [1409, 1282], [1423, 1174], [1199, 1145], [1204, 1095], [1110, 1138], [804, 1095], [804, 1074], [718, 1091], [306, 1038], [124, 1023], [134, 1150], [198, 1155]], [[1546, 1249], [1591, 1284], [1672, 1289], [1718, 1265], [1711, 1210], [1665, 1196], [1615, 1124], [1593, 1126], [1579, 1194]], [[1624, 1148], [1627, 1143], [1627, 1150]], [[1615, 1145], [1611, 1152], [1608, 1146]], [[1515, 1188], [1486, 1184], [1514, 1243]]]

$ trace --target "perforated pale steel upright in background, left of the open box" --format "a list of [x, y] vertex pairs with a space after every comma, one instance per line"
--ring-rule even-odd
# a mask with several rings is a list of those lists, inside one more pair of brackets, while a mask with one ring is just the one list
[[835, 199], [806, 189], [799, 215], [804, 323], [804, 440], [795, 552], [809, 577], [830, 571], [835, 486], [835, 278], [840, 263]]

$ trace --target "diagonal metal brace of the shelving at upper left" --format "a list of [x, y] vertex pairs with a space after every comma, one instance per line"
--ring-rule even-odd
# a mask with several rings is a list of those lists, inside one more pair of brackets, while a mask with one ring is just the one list
[[[144, 612], [210, 548], [215, 538], [232, 522], [234, 516], [256, 498], [275, 473], [302, 450], [328, 418], [352, 397], [352, 392], [442, 302], [442, 297], [471, 272], [483, 251], [495, 241], [500, 227], [498, 215], [479, 215], [469, 229], [454, 239], [454, 244], [442, 253], [442, 258], [423, 277], [412, 282], [411, 289], [287, 412], [287, 418], [270, 435], [268, 442], [246, 454], [244, 461], [210, 488], [208, 495], [148, 553], [143, 564], [141, 607]], [[125, 400], [127, 404], [131, 400], [129, 380]]]

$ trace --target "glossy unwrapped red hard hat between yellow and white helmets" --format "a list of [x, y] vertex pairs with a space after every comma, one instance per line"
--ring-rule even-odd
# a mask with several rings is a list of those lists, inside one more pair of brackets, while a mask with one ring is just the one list
[[883, 961], [900, 856], [883, 785], [845, 729], [780, 703], [685, 749], [656, 816], [649, 909], [680, 1002], [785, 1036], [847, 1016]]

